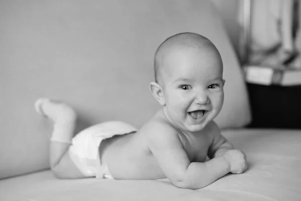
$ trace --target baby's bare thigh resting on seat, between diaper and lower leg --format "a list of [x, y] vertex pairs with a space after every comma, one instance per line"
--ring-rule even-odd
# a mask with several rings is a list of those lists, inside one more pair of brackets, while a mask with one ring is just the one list
[[62, 179], [68, 178], [83, 178], [86, 177], [74, 164], [68, 151], [61, 158], [59, 163], [51, 168], [56, 177]]

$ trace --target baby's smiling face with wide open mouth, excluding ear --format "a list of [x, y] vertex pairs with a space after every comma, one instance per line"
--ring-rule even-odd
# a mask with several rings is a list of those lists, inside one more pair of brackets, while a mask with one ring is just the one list
[[168, 116], [181, 129], [202, 130], [224, 101], [223, 64], [216, 49], [179, 48], [166, 58], [163, 91]]

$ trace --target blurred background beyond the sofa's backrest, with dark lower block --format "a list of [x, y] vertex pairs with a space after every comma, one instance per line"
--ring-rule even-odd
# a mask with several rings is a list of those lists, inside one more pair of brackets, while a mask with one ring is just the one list
[[299, 0], [212, 0], [245, 72], [249, 127], [301, 128]]

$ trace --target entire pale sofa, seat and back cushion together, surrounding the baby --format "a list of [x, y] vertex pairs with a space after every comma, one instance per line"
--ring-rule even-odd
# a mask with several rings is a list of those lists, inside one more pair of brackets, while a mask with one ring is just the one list
[[[211, 1], [2, 1], [0, 11], [0, 200], [301, 200], [301, 131], [246, 128], [242, 70]], [[77, 131], [109, 120], [139, 128], [160, 107], [148, 90], [154, 53], [180, 32], [202, 34], [221, 52], [225, 103], [215, 121], [246, 153], [248, 170], [197, 190], [168, 179], [57, 179], [51, 123], [35, 100], [73, 106]]]

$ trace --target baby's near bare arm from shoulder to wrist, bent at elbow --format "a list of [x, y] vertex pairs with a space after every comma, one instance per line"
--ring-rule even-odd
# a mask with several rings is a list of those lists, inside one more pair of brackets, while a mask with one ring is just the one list
[[229, 163], [223, 156], [204, 163], [190, 162], [178, 134], [172, 128], [156, 125], [147, 138], [149, 149], [167, 178], [177, 187], [202, 188], [230, 171]]

